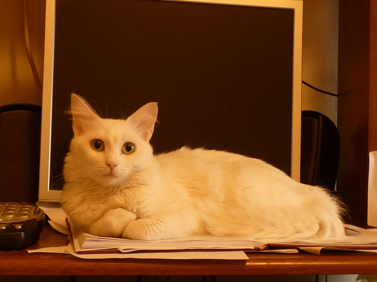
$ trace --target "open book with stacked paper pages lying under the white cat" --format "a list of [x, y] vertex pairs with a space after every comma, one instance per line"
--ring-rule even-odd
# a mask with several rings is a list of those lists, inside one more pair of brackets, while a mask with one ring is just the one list
[[[320, 249], [354, 249], [377, 252], [377, 229], [364, 230], [351, 227], [360, 232], [357, 236], [348, 236], [343, 241], [336, 240], [302, 240], [285, 242], [270, 240], [260, 242], [257, 240], [237, 237], [192, 236], [179, 239], [159, 241], [138, 241], [122, 238], [98, 237], [87, 233], [78, 232], [74, 223], [70, 223], [71, 238], [74, 250], [77, 253], [109, 253], [109, 252], [149, 252], [149, 251], [203, 251], [203, 250], [242, 250], [266, 251], [280, 249], [303, 248], [307, 251]], [[311, 249], [313, 248], [313, 249]], [[292, 252], [292, 251], [286, 251]]]

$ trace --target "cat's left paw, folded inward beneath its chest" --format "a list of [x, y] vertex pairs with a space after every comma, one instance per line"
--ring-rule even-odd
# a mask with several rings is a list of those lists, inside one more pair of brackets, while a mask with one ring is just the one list
[[136, 220], [136, 214], [117, 208], [107, 211], [103, 217], [89, 227], [89, 233], [103, 237], [119, 237], [124, 228]]

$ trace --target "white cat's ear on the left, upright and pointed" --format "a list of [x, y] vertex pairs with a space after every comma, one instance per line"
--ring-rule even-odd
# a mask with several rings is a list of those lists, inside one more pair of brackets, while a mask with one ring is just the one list
[[81, 135], [100, 117], [89, 103], [81, 96], [71, 94], [72, 128], [74, 135]]

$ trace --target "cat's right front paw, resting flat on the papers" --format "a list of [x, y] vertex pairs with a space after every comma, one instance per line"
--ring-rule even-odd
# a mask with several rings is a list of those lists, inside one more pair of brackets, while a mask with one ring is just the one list
[[138, 219], [125, 227], [122, 238], [142, 241], [161, 239], [160, 232], [152, 219]]

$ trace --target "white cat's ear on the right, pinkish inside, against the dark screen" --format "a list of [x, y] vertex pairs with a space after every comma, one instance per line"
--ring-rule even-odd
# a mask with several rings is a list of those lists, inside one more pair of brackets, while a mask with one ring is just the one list
[[147, 103], [128, 118], [146, 142], [149, 142], [150, 137], [152, 137], [157, 120], [157, 111], [157, 103]]

